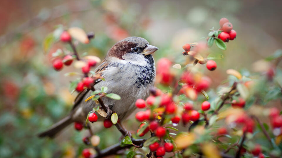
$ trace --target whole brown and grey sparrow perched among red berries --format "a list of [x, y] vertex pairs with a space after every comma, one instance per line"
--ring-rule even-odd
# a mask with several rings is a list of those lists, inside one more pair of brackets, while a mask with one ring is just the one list
[[[156, 76], [155, 61], [151, 54], [157, 49], [144, 38], [127, 37], [115, 43], [95, 69], [95, 74], [104, 78], [95, 81], [95, 89], [100, 90], [100, 87], [106, 86], [106, 93], [115, 93], [121, 97], [120, 100], [102, 98], [105, 106], [115, 111], [120, 121], [136, 109], [137, 99], [146, 99], [150, 95], [150, 88], [154, 86]], [[100, 106], [91, 99], [84, 101], [90, 97], [91, 92], [89, 89], [80, 92], [75, 98], [70, 114], [38, 136], [53, 138], [69, 124], [75, 121], [85, 122], [93, 107]], [[102, 116], [98, 118], [98, 121], [105, 119]]]

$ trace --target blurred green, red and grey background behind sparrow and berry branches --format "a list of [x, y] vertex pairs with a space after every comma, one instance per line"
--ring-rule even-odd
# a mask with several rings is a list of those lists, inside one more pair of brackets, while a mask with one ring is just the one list
[[[226, 79], [226, 69], [252, 70], [251, 63], [281, 48], [281, 6], [282, 1], [264, 0], [1, 0], [0, 157], [79, 157], [85, 147], [82, 138], [88, 131], [72, 126], [54, 140], [36, 136], [68, 114], [76, 95], [68, 90], [74, 78], [64, 76], [73, 66], [56, 72], [51, 62], [51, 53], [69, 47], [58, 42], [43, 54], [42, 42], [56, 25], [95, 32], [90, 44], [78, 46], [80, 54], [103, 59], [118, 40], [140, 36], [159, 48], [155, 61], [169, 57], [183, 63], [182, 45], [207, 37], [226, 17], [237, 38], [227, 43], [226, 51], [212, 48], [224, 56], [216, 61], [216, 71], [206, 72], [216, 87]], [[135, 131], [138, 125], [135, 119], [125, 122]], [[114, 127], [99, 130], [100, 148], [118, 141], [113, 132], [118, 133]]]

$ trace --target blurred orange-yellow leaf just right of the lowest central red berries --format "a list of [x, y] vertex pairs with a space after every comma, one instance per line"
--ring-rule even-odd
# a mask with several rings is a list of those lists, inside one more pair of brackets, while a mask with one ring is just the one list
[[194, 143], [195, 137], [193, 133], [181, 133], [175, 137], [174, 142], [178, 149], [184, 149]]

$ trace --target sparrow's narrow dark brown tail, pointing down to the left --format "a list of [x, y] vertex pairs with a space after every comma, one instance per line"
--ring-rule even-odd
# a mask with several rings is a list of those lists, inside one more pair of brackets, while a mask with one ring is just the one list
[[70, 123], [72, 123], [71, 116], [68, 115], [67, 117], [61, 119], [59, 122], [55, 123], [53, 126], [51, 126], [48, 130], [39, 133], [38, 137], [50, 137], [53, 138], [58, 132], [60, 132], [62, 129], [64, 129], [66, 126], [68, 126]]

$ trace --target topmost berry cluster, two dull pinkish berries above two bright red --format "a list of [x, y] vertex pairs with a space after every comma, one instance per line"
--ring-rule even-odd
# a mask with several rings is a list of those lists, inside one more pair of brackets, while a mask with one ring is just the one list
[[236, 31], [232, 30], [233, 25], [226, 18], [221, 18], [219, 20], [220, 30], [222, 32], [218, 35], [217, 38], [221, 39], [224, 42], [228, 42], [229, 40], [234, 40], [236, 38]]

